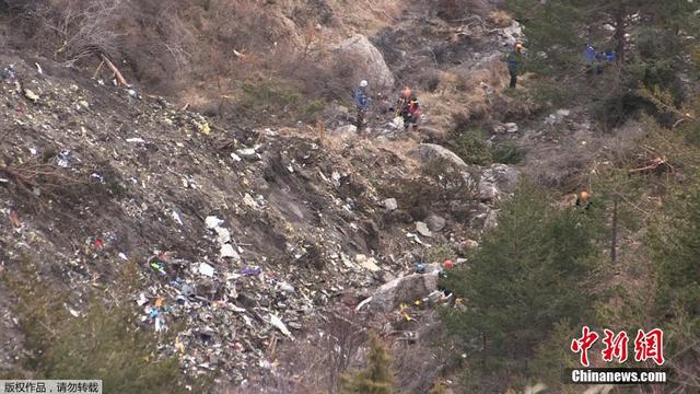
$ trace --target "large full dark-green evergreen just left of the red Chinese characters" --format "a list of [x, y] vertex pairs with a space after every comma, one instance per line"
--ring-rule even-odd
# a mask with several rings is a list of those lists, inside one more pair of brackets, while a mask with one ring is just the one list
[[524, 372], [557, 322], [586, 315], [595, 299], [596, 229], [586, 211], [555, 210], [532, 185], [502, 207], [499, 227], [469, 268], [445, 283], [464, 298], [465, 308], [444, 317], [468, 348], [471, 367]]

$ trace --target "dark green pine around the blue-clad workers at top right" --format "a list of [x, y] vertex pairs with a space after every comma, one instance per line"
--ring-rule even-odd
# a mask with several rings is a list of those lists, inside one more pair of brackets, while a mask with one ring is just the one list
[[[637, 94], [640, 85], [680, 97], [678, 71], [696, 72], [690, 61], [678, 57], [679, 50], [691, 53], [690, 47], [698, 46], [684, 38], [700, 25], [696, 5], [687, 0], [509, 0], [508, 5], [525, 26], [529, 55], [524, 67], [538, 76], [534, 86], [560, 95], [575, 92], [567, 99], [590, 105], [607, 125], [648, 103]], [[584, 78], [586, 44], [615, 51], [609, 71]], [[551, 94], [545, 97], [555, 102]]]

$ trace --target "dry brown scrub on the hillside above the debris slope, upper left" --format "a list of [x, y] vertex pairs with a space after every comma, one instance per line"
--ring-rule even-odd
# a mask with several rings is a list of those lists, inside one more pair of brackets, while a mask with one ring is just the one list
[[[304, 118], [323, 102], [350, 101], [352, 63], [327, 48], [323, 26], [377, 31], [400, 15], [395, 1], [4, 0], [10, 46], [51, 54], [91, 70], [104, 53], [128, 82], [182, 104], [230, 116], [240, 81], [280, 80], [305, 97]], [[296, 21], [296, 23], [294, 22]], [[320, 25], [320, 27], [318, 26]], [[372, 30], [371, 28], [371, 30]], [[372, 32], [368, 31], [368, 35]], [[0, 32], [0, 35], [2, 32]], [[288, 114], [287, 119], [292, 119]], [[278, 117], [280, 118], [280, 117]]]

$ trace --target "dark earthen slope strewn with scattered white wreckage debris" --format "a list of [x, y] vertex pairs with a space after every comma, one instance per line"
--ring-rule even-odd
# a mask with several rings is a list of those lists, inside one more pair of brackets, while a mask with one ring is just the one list
[[[142, 329], [176, 331], [159, 352], [178, 354], [186, 374], [240, 384], [269, 371], [272, 341], [404, 286], [431, 247], [474, 247], [517, 183], [506, 165], [468, 166], [439, 146], [218, 126], [47, 59], [1, 60], [14, 70], [1, 91], [2, 269], [36, 265], [23, 279], [70, 288], [65, 306], [81, 318], [135, 263], [136, 291], [109, 302], [131, 305]], [[380, 310], [435, 286], [389, 293]], [[9, 316], [12, 302], [0, 290]], [[9, 367], [22, 333], [2, 324]]]

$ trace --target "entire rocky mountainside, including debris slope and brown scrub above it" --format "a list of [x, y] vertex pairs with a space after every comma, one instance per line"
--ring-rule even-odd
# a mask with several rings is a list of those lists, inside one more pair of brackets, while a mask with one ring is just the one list
[[[527, 31], [497, 3], [144, 1], [132, 19], [115, 1], [102, 27], [133, 31], [100, 50], [131, 85], [94, 53], [2, 47], [0, 376], [33, 351], [19, 305], [40, 297], [19, 296], [20, 281], [65, 292], [73, 322], [90, 322], [95, 300], [136, 315], [128, 328], [154, 334], [149, 362], [174, 359], [187, 390], [214, 379], [226, 393], [336, 393], [369, 332], [390, 345], [402, 391], [451, 373], [458, 389], [460, 351], [481, 344], [445, 332], [435, 304], [464, 300], [439, 285], [443, 263], [469, 273], [522, 178], [569, 207], [596, 172], [629, 178], [622, 155], [666, 158], [639, 148], [643, 118], [604, 132], [585, 97], [560, 107], [536, 72], [506, 89], [504, 55], [527, 48]], [[362, 79], [373, 105], [358, 136]], [[390, 121], [404, 86], [420, 99], [418, 131]], [[614, 244], [638, 247], [635, 231]]]

